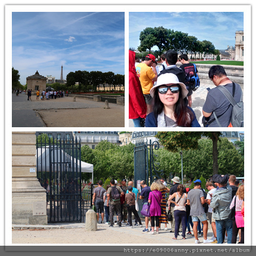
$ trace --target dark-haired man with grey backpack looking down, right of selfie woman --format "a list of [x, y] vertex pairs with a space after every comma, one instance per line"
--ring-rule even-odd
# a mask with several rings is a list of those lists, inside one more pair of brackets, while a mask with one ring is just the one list
[[215, 88], [208, 92], [202, 107], [204, 127], [244, 127], [243, 91], [232, 82], [223, 66], [214, 65], [208, 72]]

